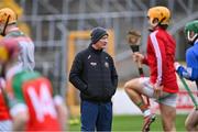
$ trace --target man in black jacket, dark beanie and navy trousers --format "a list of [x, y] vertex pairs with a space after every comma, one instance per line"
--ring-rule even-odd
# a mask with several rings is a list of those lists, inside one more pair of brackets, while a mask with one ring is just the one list
[[118, 86], [112, 57], [103, 52], [108, 33], [103, 28], [91, 32], [91, 44], [79, 52], [69, 74], [69, 81], [80, 91], [81, 131], [111, 131], [111, 98]]

